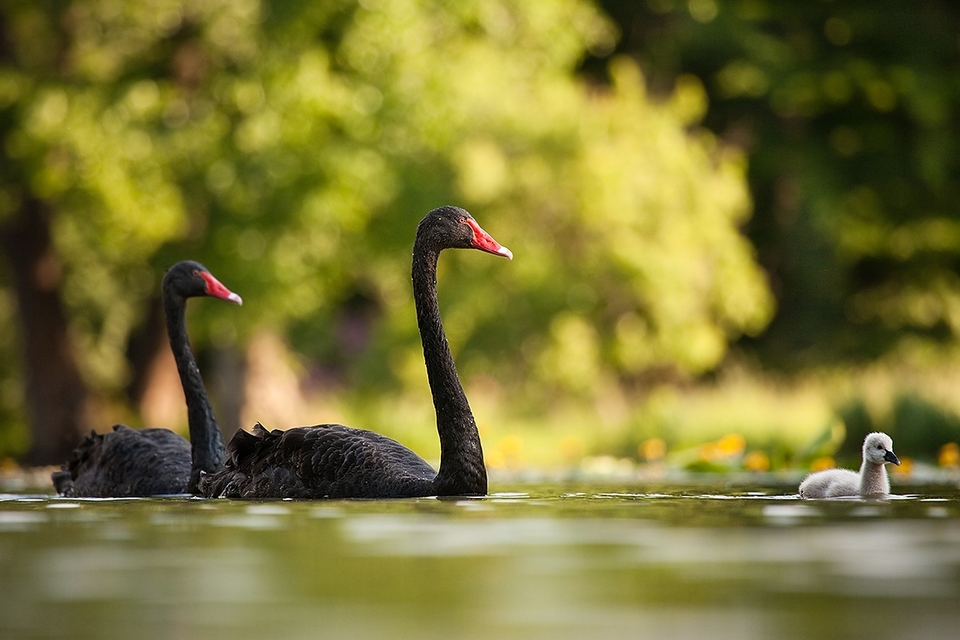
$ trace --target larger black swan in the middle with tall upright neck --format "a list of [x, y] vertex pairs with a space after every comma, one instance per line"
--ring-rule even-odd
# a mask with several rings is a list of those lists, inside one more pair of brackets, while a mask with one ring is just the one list
[[200, 492], [226, 498], [412, 498], [487, 493], [480, 434], [457, 377], [437, 304], [437, 258], [448, 248], [513, 254], [469, 213], [440, 207], [413, 244], [413, 295], [440, 434], [440, 471], [400, 443], [339, 424], [238, 431], [223, 468], [202, 474]]

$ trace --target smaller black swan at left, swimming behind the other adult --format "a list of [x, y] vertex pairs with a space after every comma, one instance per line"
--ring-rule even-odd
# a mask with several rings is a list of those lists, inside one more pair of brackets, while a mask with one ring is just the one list
[[131, 429], [121, 424], [104, 434], [93, 432], [74, 451], [73, 459], [53, 473], [57, 493], [87, 498], [195, 493], [200, 472], [223, 465], [223, 440], [190, 350], [184, 319], [187, 298], [198, 296], [243, 304], [240, 296], [197, 262], [178, 262], [163, 278], [163, 312], [187, 401], [190, 442], [169, 429]]

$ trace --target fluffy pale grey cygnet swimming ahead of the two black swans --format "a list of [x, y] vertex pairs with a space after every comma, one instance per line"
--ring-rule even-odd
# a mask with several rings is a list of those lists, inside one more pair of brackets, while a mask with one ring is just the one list
[[900, 464], [899, 458], [893, 453], [893, 440], [885, 433], [868, 434], [863, 440], [860, 473], [849, 469], [811, 473], [800, 483], [800, 497], [885, 496], [890, 493], [890, 480], [884, 468], [888, 462]]

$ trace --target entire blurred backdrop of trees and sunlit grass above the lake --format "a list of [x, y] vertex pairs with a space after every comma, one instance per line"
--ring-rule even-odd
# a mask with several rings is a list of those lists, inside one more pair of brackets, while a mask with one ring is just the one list
[[[185, 427], [148, 338], [192, 258], [244, 298], [190, 310], [222, 428], [341, 421], [436, 458], [409, 260], [451, 203], [516, 256], [441, 263], [491, 469], [801, 469], [877, 428], [957, 465], [958, 24], [930, 1], [11, 0], [0, 237], [51, 233], [32, 277], [65, 310], [78, 437]], [[53, 463], [0, 265], [0, 458]]]

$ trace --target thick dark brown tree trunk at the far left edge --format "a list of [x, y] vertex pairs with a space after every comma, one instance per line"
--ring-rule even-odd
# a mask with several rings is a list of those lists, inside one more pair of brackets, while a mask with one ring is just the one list
[[9, 264], [19, 305], [29, 464], [66, 461], [86, 431], [87, 389], [70, 344], [60, 302], [61, 268], [46, 205], [25, 197], [20, 210], [0, 224], [0, 246]]

